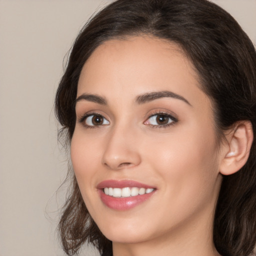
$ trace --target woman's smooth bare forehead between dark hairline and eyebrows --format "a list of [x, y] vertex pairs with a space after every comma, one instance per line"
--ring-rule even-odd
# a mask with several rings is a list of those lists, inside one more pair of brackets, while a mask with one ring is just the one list
[[134, 36], [105, 41], [92, 52], [82, 68], [77, 96], [88, 92], [134, 98], [147, 91], [171, 90], [191, 101], [205, 101], [198, 80], [176, 43]]

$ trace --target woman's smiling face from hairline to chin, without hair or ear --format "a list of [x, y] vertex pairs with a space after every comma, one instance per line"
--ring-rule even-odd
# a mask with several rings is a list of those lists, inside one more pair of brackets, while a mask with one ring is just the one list
[[73, 169], [108, 239], [211, 237], [221, 183], [213, 111], [176, 44], [104, 42], [82, 68], [75, 110]]

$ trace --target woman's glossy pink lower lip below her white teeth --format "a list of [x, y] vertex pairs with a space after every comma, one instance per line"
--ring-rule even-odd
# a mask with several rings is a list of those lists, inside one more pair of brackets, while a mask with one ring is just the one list
[[149, 199], [155, 190], [150, 193], [144, 193], [141, 195], [129, 196], [129, 197], [113, 197], [110, 195], [106, 195], [101, 189], [99, 190], [99, 195], [101, 201], [109, 208], [115, 210], [128, 210], [131, 209], [138, 204]]

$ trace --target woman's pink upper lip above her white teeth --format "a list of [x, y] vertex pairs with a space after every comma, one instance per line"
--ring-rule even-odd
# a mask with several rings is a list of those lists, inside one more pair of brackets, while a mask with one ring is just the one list
[[102, 189], [105, 187], [117, 187], [117, 188], [123, 188], [123, 187], [144, 187], [144, 188], [155, 188], [153, 186], [147, 185], [140, 183], [135, 180], [131, 179], [122, 179], [122, 180], [117, 180], [117, 179], [108, 179], [108, 180], [103, 180], [100, 183], [98, 183], [97, 188]]

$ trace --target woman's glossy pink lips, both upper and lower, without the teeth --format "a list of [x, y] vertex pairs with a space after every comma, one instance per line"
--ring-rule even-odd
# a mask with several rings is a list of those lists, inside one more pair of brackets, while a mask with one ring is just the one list
[[115, 210], [128, 210], [137, 206], [138, 204], [149, 199], [156, 189], [154, 189], [151, 193], [144, 193], [142, 195], [130, 196], [130, 197], [113, 197], [110, 195], [106, 195], [103, 192], [104, 187], [144, 187], [144, 188], [154, 188], [152, 186], [142, 184], [140, 182], [134, 180], [104, 180], [97, 185], [99, 189], [99, 196], [101, 201], [109, 208]]

